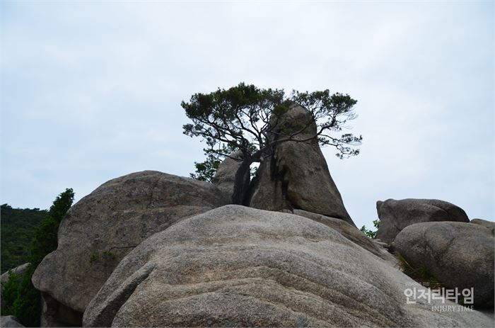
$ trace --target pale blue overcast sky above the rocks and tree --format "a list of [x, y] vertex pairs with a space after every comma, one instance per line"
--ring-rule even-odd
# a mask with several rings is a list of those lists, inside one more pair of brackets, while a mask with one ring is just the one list
[[492, 1], [2, 1], [1, 203], [188, 176], [180, 101], [240, 81], [358, 100], [361, 154], [323, 152], [359, 227], [387, 198], [494, 220]]

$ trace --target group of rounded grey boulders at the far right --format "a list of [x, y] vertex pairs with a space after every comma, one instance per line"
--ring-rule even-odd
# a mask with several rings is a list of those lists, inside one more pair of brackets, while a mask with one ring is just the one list
[[462, 208], [435, 199], [376, 204], [378, 240], [445, 288], [473, 288], [474, 305], [494, 307], [495, 222], [469, 220]]

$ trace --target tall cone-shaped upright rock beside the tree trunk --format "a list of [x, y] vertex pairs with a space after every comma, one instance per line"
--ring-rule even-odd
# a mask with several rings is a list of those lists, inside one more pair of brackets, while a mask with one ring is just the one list
[[[273, 119], [272, 119], [273, 120]], [[305, 128], [297, 140], [316, 134], [316, 125], [310, 114], [301, 106], [293, 106], [281, 118], [277, 140], [289, 133]], [[272, 155], [264, 159], [252, 183], [250, 207], [262, 210], [299, 209], [337, 217], [354, 225], [347, 213], [342, 197], [335, 186], [318, 140], [288, 141], [276, 144]]]

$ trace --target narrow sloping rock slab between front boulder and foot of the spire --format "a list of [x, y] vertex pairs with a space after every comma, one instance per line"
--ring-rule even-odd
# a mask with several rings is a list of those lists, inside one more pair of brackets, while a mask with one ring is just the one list
[[361, 230], [354, 227], [354, 225], [350, 225], [344, 220], [340, 220], [335, 217], [327, 217], [317, 213], [306, 212], [305, 210], [293, 210], [293, 214], [308, 217], [308, 219], [327, 225], [342, 234], [342, 236], [346, 237], [351, 242], [354, 242], [354, 244], [363, 247], [363, 249], [366, 249], [367, 251], [371, 251], [371, 253], [384, 259], [385, 261], [388, 261], [392, 265], [397, 264], [395, 256], [390, 254], [380, 244], [375, 243], [373, 239], [366, 237], [366, 235], [363, 234]]

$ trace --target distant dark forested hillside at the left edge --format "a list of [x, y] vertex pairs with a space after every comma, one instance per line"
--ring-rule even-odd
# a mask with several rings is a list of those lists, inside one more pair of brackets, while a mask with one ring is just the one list
[[21, 209], [1, 205], [1, 273], [27, 261], [26, 256], [36, 227], [46, 215], [47, 210], [39, 208]]

